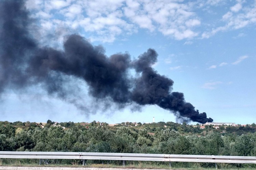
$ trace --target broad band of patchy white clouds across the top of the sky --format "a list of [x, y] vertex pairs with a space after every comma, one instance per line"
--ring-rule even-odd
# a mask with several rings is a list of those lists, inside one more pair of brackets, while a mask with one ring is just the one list
[[44, 31], [45, 34], [54, 35], [59, 27], [65, 26], [66, 30], [72, 33], [79, 30], [87, 37], [89, 32], [92, 40], [111, 42], [118, 35], [128, 36], [143, 29], [160, 32], [177, 40], [187, 39], [185, 44], [190, 44], [191, 39], [198, 35], [209, 38], [217, 32], [256, 23], [256, 7], [242, 6], [243, 3], [237, 1], [231, 7], [227, 6], [229, 11], [219, 19], [224, 25], [204, 32], [199, 31], [200, 27], [211, 24], [203, 23], [198, 15], [201, 15], [200, 10], [203, 6], [223, 5], [224, 0], [28, 0], [26, 6], [40, 24], [45, 25], [46, 21], [52, 22], [54, 19], [62, 20], [61, 25], [53, 23], [51, 29]]

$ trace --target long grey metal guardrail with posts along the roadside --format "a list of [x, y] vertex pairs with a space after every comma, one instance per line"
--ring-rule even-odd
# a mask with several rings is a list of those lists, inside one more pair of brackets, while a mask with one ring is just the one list
[[172, 154], [139, 154], [139, 153], [95, 153], [95, 152], [9, 152], [0, 151], [0, 158], [26, 159], [96, 159], [96, 160], [125, 160], [169, 162], [202, 162], [202, 163], [241, 163], [256, 164], [255, 156], [216, 156], [216, 155], [172, 155]]

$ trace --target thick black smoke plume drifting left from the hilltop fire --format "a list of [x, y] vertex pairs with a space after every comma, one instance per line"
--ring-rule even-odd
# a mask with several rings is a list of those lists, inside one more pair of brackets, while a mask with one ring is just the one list
[[[68, 92], [63, 88], [66, 80], [62, 75], [67, 75], [84, 80], [89, 94], [96, 99], [119, 105], [158, 105], [178, 117], [200, 123], [213, 121], [195, 111], [182, 93], [171, 92], [173, 81], [152, 68], [157, 61], [155, 50], [148, 49], [133, 61], [128, 53], [108, 57], [101, 46], [93, 46], [75, 34], [67, 37], [63, 51], [39, 48], [29, 34], [28, 14], [22, 0], [4, 0], [0, 4], [0, 94], [6, 88], [43, 84], [48, 94], [65, 98]], [[137, 77], [129, 75], [131, 69]]]

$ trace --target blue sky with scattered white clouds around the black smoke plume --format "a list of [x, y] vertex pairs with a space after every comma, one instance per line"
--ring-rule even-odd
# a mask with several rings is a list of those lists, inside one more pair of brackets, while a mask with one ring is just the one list
[[[65, 36], [80, 34], [105, 54], [132, 58], [153, 48], [159, 74], [174, 81], [173, 91], [214, 122], [256, 123], [256, 1], [254, 0], [28, 0], [30, 33], [40, 46], [62, 49]], [[83, 89], [87, 105], [94, 100]], [[43, 89], [6, 90], [1, 118], [8, 121], [120, 122], [176, 121], [157, 106], [131, 112], [115, 107], [84, 113]], [[193, 122], [191, 122], [193, 123]]]

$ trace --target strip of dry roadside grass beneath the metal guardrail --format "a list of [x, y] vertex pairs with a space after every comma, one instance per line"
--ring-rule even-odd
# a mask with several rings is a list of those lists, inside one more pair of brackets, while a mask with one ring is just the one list
[[[10, 159], [9, 159], [10, 160]], [[249, 167], [250, 164], [247, 164], [247, 168], [237, 168], [231, 164], [217, 164], [218, 170], [256, 170], [255, 164], [253, 167]], [[172, 167], [169, 168], [169, 163], [159, 163], [159, 162], [126, 162], [125, 167], [123, 167], [122, 162], [116, 162], [115, 164], [93, 164], [88, 163], [85, 166], [81, 165], [81, 162], [71, 162], [70, 164], [43, 164], [39, 165], [38, 160], [33, 160], [32, 162], [24, 162], [20, 159], [12, 159], [12, 161], [3, 161], [0, 159], [1, 166], [12, 166], [12, 167], [72, 167], [72, 168], [123, 168], [123, 169], [172, 169], [172, 170], [214, 170], [212, 168], [204, 168], [202, 164], [191, 163], [191, 164], [182, 164], [182, 163], [172, 163]]]

